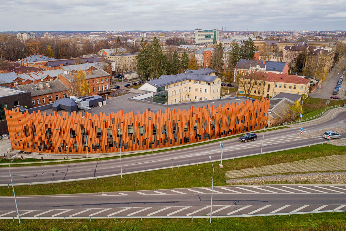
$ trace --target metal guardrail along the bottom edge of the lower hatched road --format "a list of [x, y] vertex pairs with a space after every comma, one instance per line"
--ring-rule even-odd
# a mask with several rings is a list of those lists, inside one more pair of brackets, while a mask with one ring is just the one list
[[[282, 215], [297, 215], [297, 214], [313, 214], [313, 213], [331, 213], [331, 212], [346, 212], [346, 210], [322, 210], [322, 211], [311, 211], [311, 212], [295, 212], [295, 213], [263, 213], [263, 214], [245, 214], [245, 215], [225, 215], [225, 216], [211, 216], [212, 218], [246, 218], [251, 216], [282, 216]], [[194, 218], [210, 218], [210, 216], [21, 216], [20, 219], [37, 219], [38, 221], [40, 219], [186, 219], [191, 218], [193, 220]], [[13, 216], [7, 216], [7, 217], [0, 217], [0, 219], [12, 219], [13, 221], [15, 219], [18, 219], [18, 217]]]

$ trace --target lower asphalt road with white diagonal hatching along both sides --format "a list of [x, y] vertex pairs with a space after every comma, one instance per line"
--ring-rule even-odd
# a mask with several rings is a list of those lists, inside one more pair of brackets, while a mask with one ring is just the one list
[[[17, 196], [22, 218], [191, 217], [210, 215], [211, 188]], [[345, 210], [346, 185], [261, 185], [213, 188], [212, 215]], [[13, 197], [0, 197], [0, 218], [16, 217]]]

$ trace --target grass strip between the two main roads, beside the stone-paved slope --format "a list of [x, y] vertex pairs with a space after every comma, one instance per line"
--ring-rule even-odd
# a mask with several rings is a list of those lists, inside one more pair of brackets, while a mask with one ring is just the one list
[[[331, 155], [342, 155], [345, 154], [345, 151], [346, 147], [324, 144], [270, 153], [262, 156], [224, 160], [222, 161], [224, 168], [219, 168], [218, 163], [214, 164], [214, 185], [226, 185], [225, 173], [229, 170], [259, 167]], [[54, 186], [51, 184], [43, 184], [33, 186], [15, 186], [15, 188], [16, 195], [49, 195], [203, 187], [210, 186], [211, 175], [212, 168], [211, 164], [208, 163], [181, 168], [162, 169], [160, 171], [144, 172], [140, 174], [124, 175], [122, 179], [120, 177], [108, 177], [98, 180], [77, 181], [76, 183], [56, 183]], [[0, 195], [13, 195], [12, 188], [1, 187]]]

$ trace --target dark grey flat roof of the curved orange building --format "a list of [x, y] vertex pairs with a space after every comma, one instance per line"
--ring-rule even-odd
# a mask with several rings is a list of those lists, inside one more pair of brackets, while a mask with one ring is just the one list
[[[198, 108], [198, 107], [206, 107], [208, 104], [211, 104], [214, 102], [214, 107], [217, 107], [219, 105], [223, 106], [226, 103], [240, 103], [245, 102], [246, 100], [254, 100], [245, 96], [239, 96], [239, 97], [232, 97], [232, 98], [225, 98], [225, 99], [217, 99], [217, 100], [206, 100], [206, 101], [197, 101], [197, 102], [186, 102], [186, 103], [179, 103], [179, 104], [160, 104], [160, 103], [153, 103], [148, 102], [144, 100], [131, 100], [129, 98], [138, 95], [138, 93], [128, 93], [125, 95], [116, 96], [114, 98], [107, 99], [107, 105], [102, 105], [101, 107], [93, 107], [88, 112], [91, 115], [99, 115], [101, 112], [105, 113], [106, 115], [111, 114], [112, 112], [118, 112], [123, 111], [124, 114], [134, 111], [135, 114], [137, 114], [137, 111], [140, 111], [140, 113], [143, 113], [146, 111], [147, 108], [150, 108], [151, 111], [157, 112], [161, 109], [181, 109], [181, 110], [189, 110], [191, 106]], [[46, 113], [53, 114], [53, 110], [45, 110]], [[78, 110], [78, 112], [85, 112], [85, 110]], [[77, 113], [78, 113], [77, 112]], [[58, 111], [58, 114], [62, 115], [62, 111]]]

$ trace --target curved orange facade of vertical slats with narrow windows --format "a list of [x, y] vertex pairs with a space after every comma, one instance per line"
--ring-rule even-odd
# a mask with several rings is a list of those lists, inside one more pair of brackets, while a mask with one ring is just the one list
[[[209, 102], [211, 107], [206, 102], [204, 107], [192, 104], [190, 109], [184, 104], [184, 110], [168, 107], [128, 113], [114, 112], [114, 108], [98, 114], [17, 109], [5, 113], [13, 149], [81, 154], [88, 148], [90, 154], [96, 154], [119, 152], [120, 147], [122, 151], [135, 151], [191, 144], [264, 127], [268, 99], [234, 101], [215, 100], [215, 104]], [[222, 104], [216, 105], [218, 102]]]

